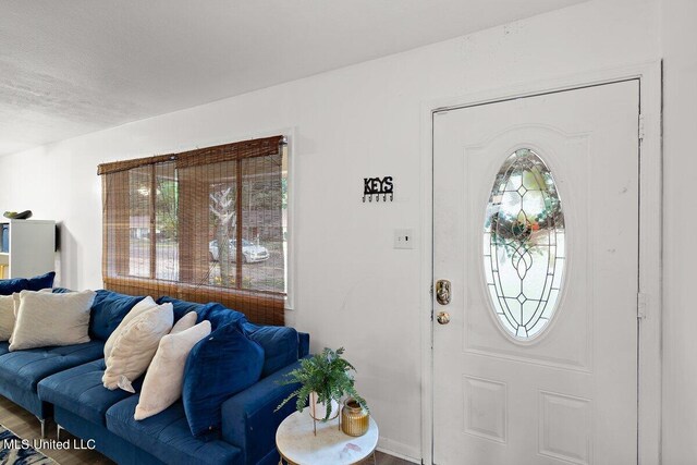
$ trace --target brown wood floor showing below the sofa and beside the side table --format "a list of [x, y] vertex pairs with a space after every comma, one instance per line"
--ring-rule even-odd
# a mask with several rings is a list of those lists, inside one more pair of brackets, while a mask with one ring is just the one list
[[[41, 437], [41, 427], [39, 420], [24, 408], [16, 406], [4, 397], [0, 397], [0, 424], [12, 430], [22, 439], [39, 439]], [[48, 439], [56, 439], [56, 424], [49, 421], [46, 429]], [[61, 431], [61, 441], [73, 438], [65, 431]], [[77, 465], [77, 464], [113, 464], [112, 461], [101, 455], [99, 452], [88, 450], [41, 450], [45, 455], [53, 458], [60, 465]], [[402, 458], [376, 452], [377, 465], [407, 465]]]

